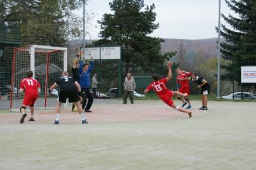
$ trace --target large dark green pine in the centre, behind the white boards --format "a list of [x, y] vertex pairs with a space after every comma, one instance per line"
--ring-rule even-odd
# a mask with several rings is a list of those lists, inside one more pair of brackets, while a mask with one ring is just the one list
[[126, 72], [163, 70], [163, 62], [173, 53], [162, 55], [160, 43], [164, 40], [148, 36], [159, 27], [154, 23], [154, 4], [145, 6], [143, 0], [113, 0], [109, 6], [113, 13], [105, 13], [98, 21], [102, 39], [93, 45], [120, 45]]

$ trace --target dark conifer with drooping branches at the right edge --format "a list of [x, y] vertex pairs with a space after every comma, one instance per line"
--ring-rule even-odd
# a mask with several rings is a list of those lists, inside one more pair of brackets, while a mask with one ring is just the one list
[[[255, 0], [225, 0], [228, 7], [238, 14], [221, 15], [232, 27], [222, 25], [221, 53], [225, 60], [231, 61], [223, 66], [227, 73], [222, 78], [241, 84], [241, 66], [256, 65], [256, 1]], [[253, 86], [253, 84], [246, 84]]]

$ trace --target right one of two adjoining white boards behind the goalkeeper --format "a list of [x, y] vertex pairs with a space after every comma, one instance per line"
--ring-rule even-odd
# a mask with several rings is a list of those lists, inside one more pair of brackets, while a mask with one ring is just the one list
[[121, 47], [100, 47], [101, 59], [121, 59]]

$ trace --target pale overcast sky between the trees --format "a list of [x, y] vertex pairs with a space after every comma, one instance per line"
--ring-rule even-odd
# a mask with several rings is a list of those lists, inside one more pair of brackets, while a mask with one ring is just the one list
[[[101, 20], [104, 13], [111, 13], [109, 2], [111, 1], [88, 0], [86, 4], [86, 12], [96, 14], [92, 23], [96, 27], [91, 26], [86, 30], [92, 39], [99, 39], [100, 25], [97, 20]], [[159, 23], [159, 28], [150, 36], [190, 40], [217, 37], [215, 27], [218, 26], [218, 2], [218, 0], [144, 0], [146, 5], [155, 4], [156, 23]], [[83, 17], [83, 7], [74, 13]], [[221, 0], [221, 13], [234, 14], [224, 0]]]

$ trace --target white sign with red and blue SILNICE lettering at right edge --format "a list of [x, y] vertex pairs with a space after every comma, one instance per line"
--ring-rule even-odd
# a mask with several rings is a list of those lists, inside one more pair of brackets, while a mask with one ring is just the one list
[[256, 83], [256, 66], [242, 66], [241, 73], [242, 83]]

